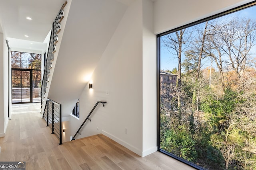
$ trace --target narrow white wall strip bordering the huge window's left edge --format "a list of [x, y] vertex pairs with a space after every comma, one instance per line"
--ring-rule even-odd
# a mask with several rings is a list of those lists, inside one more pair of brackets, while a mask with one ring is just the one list
[[143, 0], [143, 150], [146, 156], [156, 145], [156, 35], [153, 33], [153, 3]]

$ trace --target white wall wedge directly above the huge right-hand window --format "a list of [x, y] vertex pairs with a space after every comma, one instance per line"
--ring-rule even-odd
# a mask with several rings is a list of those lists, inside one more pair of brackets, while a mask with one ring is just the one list
[[154, 4], [154, 33], [163, 33], [252, 1], [157, 0]]

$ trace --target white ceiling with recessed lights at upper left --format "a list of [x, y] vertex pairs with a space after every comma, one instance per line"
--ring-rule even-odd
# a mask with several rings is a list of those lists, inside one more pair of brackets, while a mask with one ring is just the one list
[[[65, 0], [0, 0], [0, 24], [11, 49], [40, 51], [45, 48], [44, 39], [64, 2]], [[27, 20], [26, 17], [32, 20]]]

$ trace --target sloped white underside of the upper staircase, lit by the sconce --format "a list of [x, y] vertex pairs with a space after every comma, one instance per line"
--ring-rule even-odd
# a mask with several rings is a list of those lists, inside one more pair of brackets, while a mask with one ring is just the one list
[[48, 96], [62, 104], [63, 116], [70, 115], [125, 10], [116, 0], [71, 2]]

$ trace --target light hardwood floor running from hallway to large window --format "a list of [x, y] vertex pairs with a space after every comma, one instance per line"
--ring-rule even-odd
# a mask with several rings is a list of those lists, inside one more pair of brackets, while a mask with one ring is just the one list
[[25, 161], [26, 170], [193, 170], [165, 154], [140, 157], [99, 134], [58, 145], [38, 112], [13, 114], [0, 138], [0, 161]]

